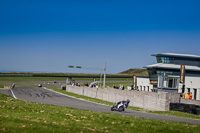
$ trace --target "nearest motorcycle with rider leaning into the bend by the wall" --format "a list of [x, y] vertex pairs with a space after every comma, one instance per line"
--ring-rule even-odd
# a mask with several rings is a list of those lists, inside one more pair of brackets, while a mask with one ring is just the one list
[[127, 101], [120, 101], [118, 103], [114, 103], [114, 105], [111, 107], [111, 111], [125, 111], [125, 108], [128, 107], [128, 104], [130, 103], [130, 100], [127, 99]]

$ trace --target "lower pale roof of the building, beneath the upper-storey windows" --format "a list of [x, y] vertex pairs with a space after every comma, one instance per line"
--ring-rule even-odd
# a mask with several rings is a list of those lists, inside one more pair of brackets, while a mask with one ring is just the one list
[[[162, 68], [162, 69], [180, 69], [180, 65], [176, 64], [165, 64], [165, 63], [157, 63], [153, 65], [147, 65], [145, 68]], [[192, 71], [200, 71], [200, 67], [198, 66], [189, 66], [185, 65], [186, 70], [192, 70]]]

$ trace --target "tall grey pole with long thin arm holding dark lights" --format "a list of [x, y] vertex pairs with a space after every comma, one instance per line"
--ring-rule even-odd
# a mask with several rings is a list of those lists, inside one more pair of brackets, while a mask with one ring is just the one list
[[[107, 63], [105, 62], [105, 67], [103, 68], [103, 69], [104, 69], [103, 88], [105, 88], [105, 84], [106, 84], [106, 66], [107, 66]], [[101, 81], [102, 81], [102, 68], [99, 68], [99, 67], [88, 68], [88, 67], [73, 66], [73, 65], [69, 65], [68, 67], [69, 67], [69, 68], [79, 68], [79, 69], [85, 68], [85, 69], [98, 69], [98, 70], [101, 70], [101, 74], [100, 74], [100, 83], [101, 83]]]

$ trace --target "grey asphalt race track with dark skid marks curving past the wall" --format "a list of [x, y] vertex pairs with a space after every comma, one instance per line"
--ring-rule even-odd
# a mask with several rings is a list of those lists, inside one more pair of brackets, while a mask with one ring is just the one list
[[[149, 119], [156, 119], [156, 120], [200, 124], [200, 120], [157, 115], [157, 114], [144, 113], [144, 112], [133, 111], [133, 110], [128, 110], [128, 109], [126, 109], [124, 112], [111, 111], [110, 106], [93, 103], [93, 102], [89, 102], [89, 101], [85, 101], [81, 99], [76, 99], [74, 97], [67, 96], [62, 93], [57, 93], [45, 88], [15, 87], [14, 89], [11, 90], [11, 92], [15, 95], [17, 99], [30, 101], [30, 102], [66, 106], [66, 107], [91, 110], [91, 111], [96, 111], [96, 112], [116, 113], [120, 115], [142, 117], [142, 118], [149, 118]], [[0, 93], [2, 92], [0, 91]], [[8, 91], [7, 93], [12, 94]]]

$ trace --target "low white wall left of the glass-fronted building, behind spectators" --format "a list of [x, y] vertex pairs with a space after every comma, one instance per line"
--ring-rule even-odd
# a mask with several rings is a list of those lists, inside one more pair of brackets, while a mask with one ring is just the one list
[[140, 78], [137, 77], [137, 86], [139, 91], [151, 91], [153, 89], [153, 85], [150, 84], [149, 78]]

